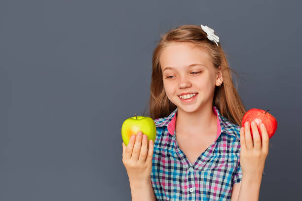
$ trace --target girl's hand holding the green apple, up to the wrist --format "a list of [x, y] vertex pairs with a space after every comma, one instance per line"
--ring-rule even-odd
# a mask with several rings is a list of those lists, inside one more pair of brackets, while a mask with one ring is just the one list
[[150, 180], [152, 171], [153, 142], [148, 136], [139, 131], [130, 137], [129, 143], [123, 146], [123, 164], [126, 167], [130, 182]]

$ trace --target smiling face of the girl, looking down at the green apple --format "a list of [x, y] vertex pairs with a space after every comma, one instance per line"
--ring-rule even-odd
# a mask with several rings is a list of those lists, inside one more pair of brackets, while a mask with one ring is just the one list
[[[193, 65], [198, 64], [198, 65]], [[168, 99], [179, 109], [193, 112], [204, 105], [212, 106], [215, 85], [223, 82], [221, 70], [214, 70], [207, 51], [189, 42], [173, 42], [160, 55], [163, 84]], [[196, 94], [183, 101], [182, 93]]]

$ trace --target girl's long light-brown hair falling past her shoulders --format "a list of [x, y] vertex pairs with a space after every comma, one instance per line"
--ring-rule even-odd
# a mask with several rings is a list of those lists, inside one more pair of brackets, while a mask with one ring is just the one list
[[216, 72], [221, 66], [223, 83], [221, 87], [215, 87], [213, 105], [219, 109], [222, 116], [233, 124], [241, 126], [246, 109], [232, 82], [230, 73], [232, 69], [228, 67], [227, 58], [220, 42], [218, 43], [219, 46], [217, 46], [216, 43], [207, 38], [207, 34], [201, 27], [196, 25], [182, 25], [175, 29], [170, 29], [167, 33], [161, 34], [160, 37], [161, 39], [153, 50], [152, 56], [150, 113], [148, 115], [154, 120], [166, 117], [176, 109], [177, 106], [168, 99], [165, 93], [159, 58], [162, 50], [169, 43], [191, 42], [204, 47], [208, 51]]

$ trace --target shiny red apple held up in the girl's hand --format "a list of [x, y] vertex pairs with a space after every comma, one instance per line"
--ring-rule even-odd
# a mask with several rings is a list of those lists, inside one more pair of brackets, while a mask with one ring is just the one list
[[257, 127], [258, 127], [258, 132], [260, 134], [260, 138], [262, 139], [262, 132], [261, 132], [261, 128], [260, 128], [260, 124], [264, 123], [267, 134], [268, 134], [268, 138], [271, 138], [276, 130], [277, 130], [277, 120], [275, 119], [275, 117], [273, 117], [270, 113], [268, 113], [267, 111], [269, 110], [262, 110], [262, 109], [250, 109], [248, 110], [243, 118], [242, 118], [242, 122], [241, 122], [241, 126], [244, 127], [244, 123], [245, 122], [250, 122], [250, 131], [251, 131], [251, 135], [252, 135], [252, 139], [253, 138], [253, 132], [252, 132], [252, 127], [251, 127], [251, 123], [254, 121], [257, 123]]

